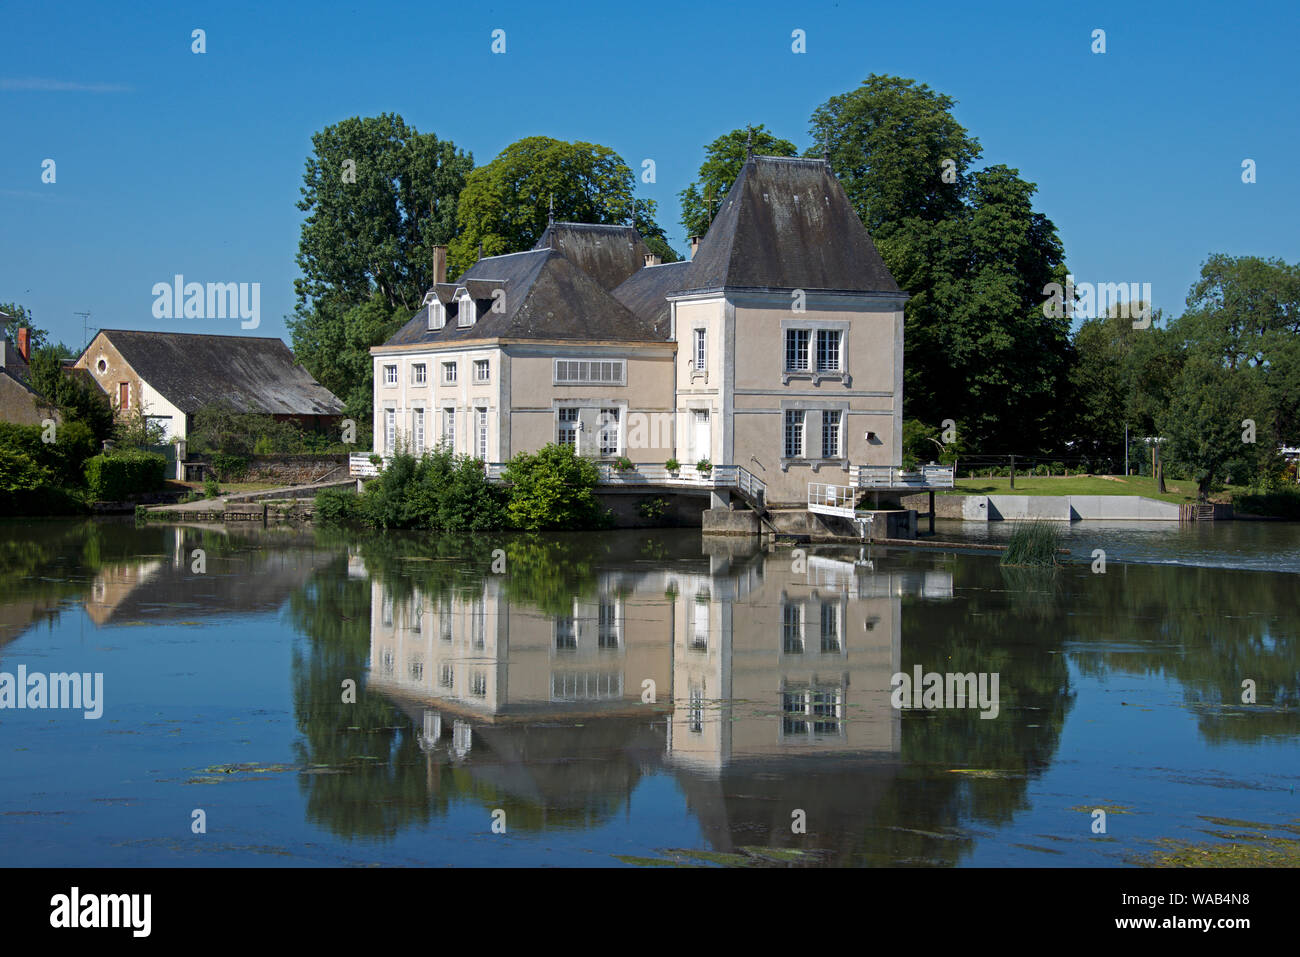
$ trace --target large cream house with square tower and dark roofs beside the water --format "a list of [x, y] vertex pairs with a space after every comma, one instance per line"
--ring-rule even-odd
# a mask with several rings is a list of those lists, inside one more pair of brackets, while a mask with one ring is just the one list
[[370, 350], [376, 451], [707, 460], [774, 503], [897, 467], [907, 296], [829, 165], [750, 156], [692, 251], [660, 264], [628, 226], [551, 222], [455, 282], [436, 252], [424, 307]]

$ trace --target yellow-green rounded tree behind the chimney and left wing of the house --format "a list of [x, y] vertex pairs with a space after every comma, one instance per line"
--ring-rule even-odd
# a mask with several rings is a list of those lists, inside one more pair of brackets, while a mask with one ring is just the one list
[[480, 246], [485, 256], [532, 248], [546, 230], [552, 200], [558, 221], [618, 224], [632, 217], [642, 237], [662, 239], [655, 202], [633, 200], [633, 183], [623, 157], [597, 143], [550, 137], [511, 143], [465, 178], [456, 209], [460, 234], [451, 243], [451, 274], [473, 265]]

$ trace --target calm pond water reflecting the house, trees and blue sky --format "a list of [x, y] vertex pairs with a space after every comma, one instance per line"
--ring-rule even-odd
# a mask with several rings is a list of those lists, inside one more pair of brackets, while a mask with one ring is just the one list
[[[1105, 575], [9, 523], [0, 672], [104, 690], [0, 710], [0, 865], [1089, 866], [1294, 828], [1300, 528], [1069, 534]], [[997, 715], [896, 709], [916, 666], [996, 672]]]

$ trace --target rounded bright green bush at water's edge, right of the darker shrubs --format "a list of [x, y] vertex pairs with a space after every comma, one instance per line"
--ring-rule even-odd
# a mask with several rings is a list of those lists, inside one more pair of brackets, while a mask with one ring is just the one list
[[519, 528], [593, 528], [603, 521], [595, 498], [599, 469], [567, 445], [519, 452], [503, 477], [511, 486], [510, 519]]

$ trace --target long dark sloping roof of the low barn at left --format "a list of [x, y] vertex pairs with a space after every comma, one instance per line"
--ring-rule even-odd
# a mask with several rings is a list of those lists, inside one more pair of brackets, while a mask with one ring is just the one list
[[343, 412], [343, 403], [312, 378], [280, 339], [133, 329], [101, 329], [99, 335], [107, 337], [135, 373], [182, 412], [196, 412], [216, 402], [237, 412], [263, 415]]

